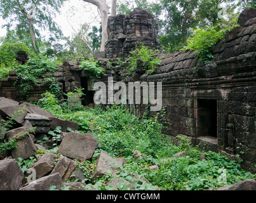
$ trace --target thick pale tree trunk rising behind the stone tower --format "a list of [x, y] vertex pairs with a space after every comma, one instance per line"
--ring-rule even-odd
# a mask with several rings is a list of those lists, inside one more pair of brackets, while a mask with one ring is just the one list
[[[109, 13], [109, 6], [106, 0], [83, 0], [84, 2], [91, 3], [97, 6], [100, 12], [100, 18], [102, 22], [102, 43], [100, 45], [100, 51], [105, 50], [105, 43], [107, 42], [107, 18]], [[112, 8], [116, 7], [116, 0], [112, 0]], [[112, 11], [113, 15], [115, 11]]]

